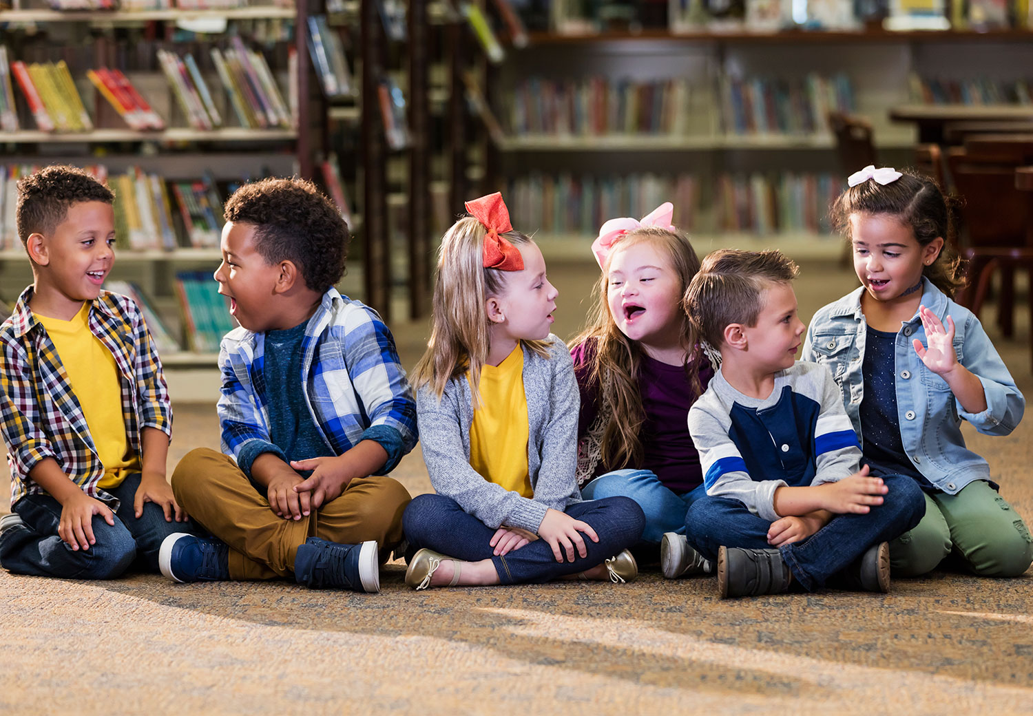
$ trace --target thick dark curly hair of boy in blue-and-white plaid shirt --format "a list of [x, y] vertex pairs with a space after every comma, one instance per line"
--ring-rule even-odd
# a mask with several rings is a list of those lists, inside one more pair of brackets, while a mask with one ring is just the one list
[[226, 201], [226, 221], [255, 226], [267, 263], [293, 261], [305, 285], [322, 293], [344, 276], [348, 225], [334, 204], [304, 179], [262, 179]]

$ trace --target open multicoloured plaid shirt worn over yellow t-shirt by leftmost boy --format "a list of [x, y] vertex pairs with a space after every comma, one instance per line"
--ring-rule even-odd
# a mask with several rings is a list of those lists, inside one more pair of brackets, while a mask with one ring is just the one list
[[[104, 466], [54, 342], [29, 308], [31, 298], [29, 286], [0, 325], [0, 430], [7, 444], [11, 506], [26, 495], [43, 492], [29, 470], [54, 458], [83, 492], [117, 509], [118, 500], [97, 488]], [[115, 356], [126, 438], [129, 448], [139, 455], [144, 428], [171, 435], [173, 409], [161, 361], [132, 299], [100, 291], [92, 303], [90, 331]]]

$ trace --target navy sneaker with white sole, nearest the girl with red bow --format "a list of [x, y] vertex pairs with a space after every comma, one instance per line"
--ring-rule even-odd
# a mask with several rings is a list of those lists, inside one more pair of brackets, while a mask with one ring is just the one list
[[380, 565], [377, 543], [338, 544], [319, 537], [309, 537], [298, 548], [294, 579], [312, 589], [351, 589], [356, 592], [380, 591]]

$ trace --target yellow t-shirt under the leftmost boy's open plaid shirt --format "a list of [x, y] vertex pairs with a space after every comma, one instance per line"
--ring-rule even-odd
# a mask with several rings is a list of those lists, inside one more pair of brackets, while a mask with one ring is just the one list
[[122, 383], [115, 356], [90, 331], [90, 302], [71, 320], [35, 314], [54, 341], [61, 365], [68, 374], [71, 391], [79, 399], [86, 425], [104, 466], [97, 484], [101, 490], [117, 488], [131, 472], [139, 472], [136, 455], [127, 455], [129, 440], [122, 415]]

